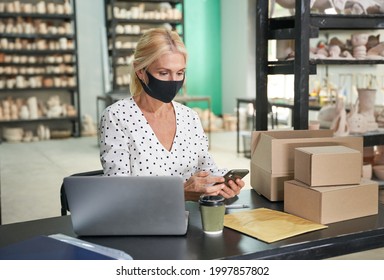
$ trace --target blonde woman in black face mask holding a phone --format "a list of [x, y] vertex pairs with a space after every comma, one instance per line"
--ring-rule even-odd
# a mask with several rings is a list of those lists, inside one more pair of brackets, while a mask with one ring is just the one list
[[187, 51], [179, 35], [151, 29], [134, 54], [132, 97], [109, 106], [101, 117], [100, 158], [106, 176], [181, 176], [186, 200], [201, 194], [230, 198], [241, 179], [224, 184], [208, 153], [196, 112], [172, 101], [185, 79]]

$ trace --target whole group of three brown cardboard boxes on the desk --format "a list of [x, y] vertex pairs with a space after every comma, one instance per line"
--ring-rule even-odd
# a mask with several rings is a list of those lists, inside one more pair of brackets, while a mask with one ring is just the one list
[[319, 223], [376, 214], [378, 184], [361, 178], [362, 137], [331, 130], [254, 131], [251, 186]]

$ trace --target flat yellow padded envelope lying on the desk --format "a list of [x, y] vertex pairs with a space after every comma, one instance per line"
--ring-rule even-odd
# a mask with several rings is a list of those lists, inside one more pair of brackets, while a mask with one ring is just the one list
[[325, 225], [267, 208], [227, 214], [224, 216], [224, 226], [267, 243], [327, 228]]

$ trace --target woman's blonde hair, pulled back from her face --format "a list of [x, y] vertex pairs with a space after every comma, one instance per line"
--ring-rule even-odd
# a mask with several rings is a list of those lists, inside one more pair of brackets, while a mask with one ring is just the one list
[[147, 69], [162, 55], [173, 52], [180, 53], [187, 61], [187, 50], [179, 34], [165, 28], [153, 28], [143, 34], [137, 43], [131, 67], [131, 83], [129, 89], [132, 96], [139, 95], [143, 87], [136, 71]]

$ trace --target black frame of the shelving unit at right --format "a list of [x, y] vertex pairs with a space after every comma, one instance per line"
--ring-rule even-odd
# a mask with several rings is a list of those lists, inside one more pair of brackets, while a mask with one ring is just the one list
[[[296, 0], [292, 17], [268, 18], [268, 1], [257, 2], [256, 19], [256, 130], [267, 130], [267, 79], [271, 74], [294, 74], [294, 129], [308, 128], [309, 75], [316, 74], [317, 65], [375, 65], [384, 60], [310, 60], [310, 39], [320, 30], [383, 29], [378, 15], [322, 15], [310, 13], [310, 1]], [[269, 40], [294, 39], [293, 61], [268, 61]], [[382, 133], [364, 135], [364, 146], [384, 143]]]

